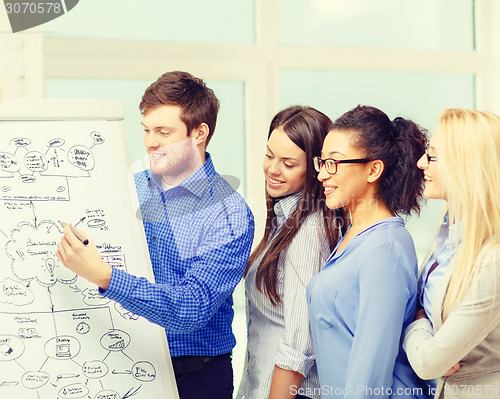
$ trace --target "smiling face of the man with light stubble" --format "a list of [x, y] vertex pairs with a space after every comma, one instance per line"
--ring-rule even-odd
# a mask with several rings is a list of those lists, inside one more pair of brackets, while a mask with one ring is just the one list
[[181, 120], [181, 107], [155, 107], [143, 115], [141, 124], [144, 126], [144, 146], [151, 171], [163, 176], [163, 181], [172, 185], [179, 178], [188, 177], [199, 164], [200, 153], [195, 139], [188, 135]]

